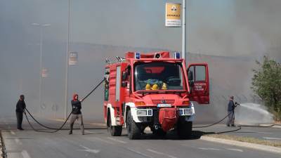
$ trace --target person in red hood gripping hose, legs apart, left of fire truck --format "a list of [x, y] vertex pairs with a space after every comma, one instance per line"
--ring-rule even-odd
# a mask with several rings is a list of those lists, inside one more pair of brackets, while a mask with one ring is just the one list
[[80, 124], [80, 129], [82, 135], [84, 135], [84, 124], [83, 124], [83, 117], [81, 113], [81, 100], [78, 100], [78, 94], [73, 95], [73, 100], [71, 100], [72, 105], [72, 112], [70, 117], [70, 133], [72, 134], [74, 121], [77, 119]]

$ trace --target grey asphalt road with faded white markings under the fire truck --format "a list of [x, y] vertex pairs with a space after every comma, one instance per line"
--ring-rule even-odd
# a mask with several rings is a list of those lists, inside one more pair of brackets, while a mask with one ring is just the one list
[[[58, 124], [61, 124], [61, 122], [48, 122], [49, 126], [58, 126]], [[86, 124], [86, 126], [90, 127], [90, 124]], [[68, 135], [66, 130], [58, 133], [38, 133], [32, 131], [27, 124], [24, 124], [23, 127], [25, 131], [15, 130], [14, 119], [1, 118], [0, 129], [6, 143], [8, 158], [280, 158], [280, 154], [200, 140], [200, 134], [205, 132], [199, 129], [196, 129], [195, 136], [189, 140], [178, 140], [173, 132], [169, 133], [166, 138], [157, 138], [148, 133], [141, 140], [129, 140], [125, 130], [122, 136], [112, 137], [106, 129], [100, 129], [100, 126], [91, 126], [96, 129], [86, 130], [84, 136], [81, 135], [79, 130], [75, 130], [73, 135]], [[39, 126], [36, 126], [36, 128], [38, 129]]]

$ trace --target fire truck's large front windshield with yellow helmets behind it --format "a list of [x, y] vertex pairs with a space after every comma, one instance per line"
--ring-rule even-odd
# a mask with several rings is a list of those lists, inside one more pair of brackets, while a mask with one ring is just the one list
[[183, 68], [180, 63], [148, 62], [135, 66], [135, 90], [183, 90]]

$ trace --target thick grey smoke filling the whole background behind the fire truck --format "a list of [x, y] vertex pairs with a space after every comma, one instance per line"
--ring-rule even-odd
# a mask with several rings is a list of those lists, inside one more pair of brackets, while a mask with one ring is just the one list
[[[0, 0], [0, 115], [14, 116], [18, 96], [36, 114], [63, 117], [68, 1]], [[105, 58], [126, 51], [181, 51], [181, 28], [164, 27], [168, 1], [72, 1], [71, 51], [79, 62], [70, 66], [69, 100], [81, 97], [103, 77]], [[169, 1], [169, 2], [181, 2]], [[281, 1], [189, 0], [187, 16], [188, 61], [208, 62], [211, 105], [197, 106], [197, 121], [226, 114], [229, 96], [241, 103], [259, 103], [249, 88], [254, 60], [264, 54], [281, 62]], [[39, 106], [40, 28], [43, 67]], [[102, 87], [83, 103], [88, 119], [103, 120]], [[204, 117], [209, 116], [209, 117]]]

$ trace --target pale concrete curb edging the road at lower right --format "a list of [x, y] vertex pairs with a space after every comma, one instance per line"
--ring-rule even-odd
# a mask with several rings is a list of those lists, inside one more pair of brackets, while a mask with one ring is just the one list
[[240, 141], [235, 141], [235, 140], [226, 140], [226, 139], [221, 139], [221, 138], [212, 138], [208, 136], [201, 136], [201, 140], [207, 140], [211, 142], [216, 142], [216, 143], [222, 143], [222, 144], [227, 144], [227, 145], [235, 145], [239, 147], [248, 147], [254, 150], [262, 150], [266, 152], [275, 152], [277, 154], [281, 154], [281, 148], [280, 147], [271, 147], [268, 145], [259, 145], [259, 144], [254, 144], [254, 143], [246, 143], [246, 142], [240, 142]]

